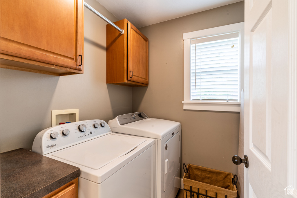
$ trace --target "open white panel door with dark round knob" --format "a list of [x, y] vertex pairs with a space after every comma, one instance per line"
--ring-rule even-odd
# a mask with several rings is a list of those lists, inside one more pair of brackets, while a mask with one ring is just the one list
[[244, 198], [297, 197], [296, 10], [245, 0]]

